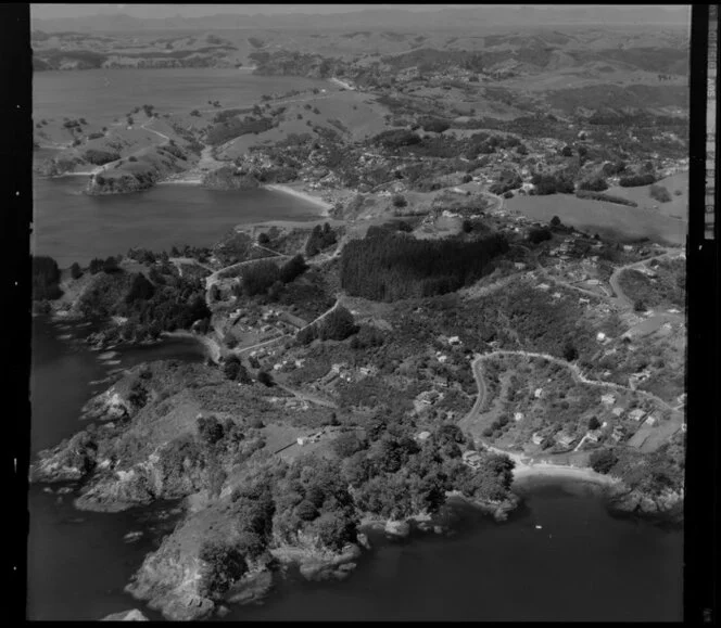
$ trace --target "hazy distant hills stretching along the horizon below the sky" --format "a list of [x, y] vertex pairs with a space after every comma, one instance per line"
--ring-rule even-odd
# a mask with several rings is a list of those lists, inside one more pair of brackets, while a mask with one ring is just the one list
[[649, 26], [688, 27], [688, 7], [624, 5], [482, 5], [439, 11], [369, 9], [333, 14], [238, 15], [142, 20], [125, 14], [88, 15], [56, 20], [33, 18], [34, 29], [58, 31], [220, 30], [268, 28], [371, 28], [440, 30], [534, 26]]

